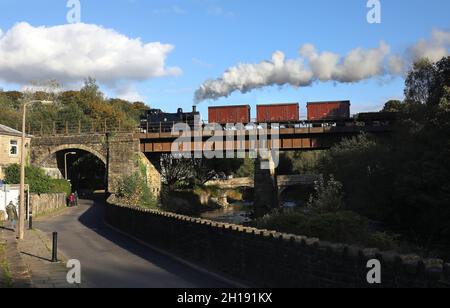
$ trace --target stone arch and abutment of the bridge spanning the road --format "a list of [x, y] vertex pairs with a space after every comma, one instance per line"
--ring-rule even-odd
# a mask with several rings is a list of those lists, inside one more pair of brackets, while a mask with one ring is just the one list
[[137, 172], [140, 164], [145, 164], [149, 187], [155, 195], [160, 194], [160, 174], [141, 153], [140, 140], [132, 133], [35, 137], [31, 141], [31, 163], [61, 178], [57, 154], [70, 151], [88, 152], [105, 164], [105, 186], [110, 193], [116, 192], [121, 177]]

